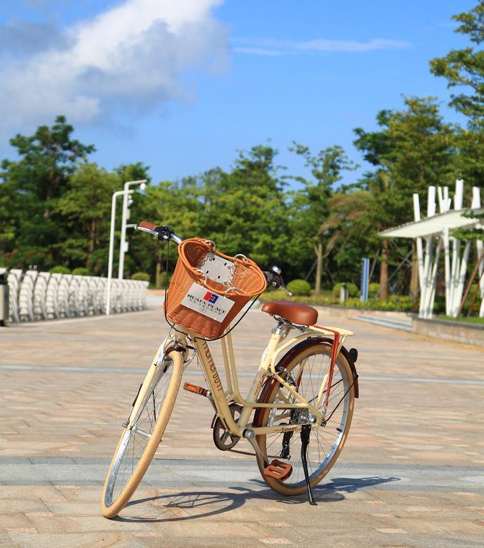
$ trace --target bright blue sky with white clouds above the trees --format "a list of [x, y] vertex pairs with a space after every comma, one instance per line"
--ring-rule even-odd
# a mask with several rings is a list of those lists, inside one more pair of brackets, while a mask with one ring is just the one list
[[0, 0], [0, 158], [9, 138], [67, 116], [107, 169], [142, 162], [153, 183], [229, 169], [270, 143], [286, 174], [311, 151], [353, 146], [404, 96], [437, 96], [428, 61], [468, 46], [450, 17], [476, 1]]

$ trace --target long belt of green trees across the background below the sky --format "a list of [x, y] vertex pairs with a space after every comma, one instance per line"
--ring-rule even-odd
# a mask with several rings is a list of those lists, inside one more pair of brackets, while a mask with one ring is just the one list
[[[215, 240], [224, 253], [243, 253], [263, 267], [277, 263], [287, 280], [306, 278], [316, 293], [336, 282], [358, 283], [361, 258], [373, 257], [386, 287], [388, 265], [405, 258], [410, 243], [382, 241], [378, 232], [412, 220], [412, 193], [423, 203], [430, 185], [483, 181], [483, 4], [454, 19], [470, 46], [433, 59], [430, 70], [447, 78], [456, 91], [450, 105], [468, 124], [445, 121], [438, 98], [403, 97], [400, 108], [375, 113], [376, 130], [354, 129], [354, 145], [370, 164], [363, 176], [336, 143], [323, 143], [319, 151], [293, 143], [289, 150], [309, 176], [278, 166], [278, 151], [265, 143], [238, 151], [226, 170], [213, 166], [153, 182], [143, 161], [112, 171], [91, 162], [94, 145], [74, 138], [64, 116], [30, 136], [14, 136], [18, 159], [1, 163], [0, 263], [106, 275], [112, 193], [142, 178], [151, 184], [134, 193], [131, 222], [169, 223], [183, 238]], [[348, 173], [352, 182], [343, 185]], [[120, 213], [121, 201], [118, 220]], [[118, 230], [119, 222], [119, 237]], [[132, 231], [128, 240], [126, 275], [143, 271], [159, 285], [166, 268], [161, 247]], [[408, 290], [410, 273], [402, 272]]]

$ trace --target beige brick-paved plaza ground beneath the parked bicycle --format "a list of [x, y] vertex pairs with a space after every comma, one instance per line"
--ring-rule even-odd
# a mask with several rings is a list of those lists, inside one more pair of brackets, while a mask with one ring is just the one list
[[[146, 482], [111, 521], [101, 484], [161, 314], [1, 329], [0, 548], [483, 547], [484, 352], [334, 323], [357, 333], [361, 397], [318, 507], [216, 450], [211, 407], [182, 391]], [[251, 311], [236, 331], [243, 390], [272, 324]], [[201, 383], [196, 366], [185, 380]]]

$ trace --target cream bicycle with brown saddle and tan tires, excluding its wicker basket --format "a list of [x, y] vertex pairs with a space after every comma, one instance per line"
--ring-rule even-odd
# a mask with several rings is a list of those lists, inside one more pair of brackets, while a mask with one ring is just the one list
[[[143, 222], [137, 228], [168, 240], [168, 245], [170, 241], [177, 245], [183, 242], [168, 226]], [[268, 285], [285, 289], [280, 268], [274, 266], [263, 275]], [[171, 290], [172, 285], [166, 300]], [[307, 491], [309, 502], [316, 504], [312, 489], [340, 455], [358, 397], [358, 352], [343, 346], [353, 333], [316, 325], [318, 312], [308, 305], [281, 301], [265, 303], [261, 310], [275, 318], [276, 326], [245, 399], [238, 387], [232, 328], [218, 337], [226, 376], [224, 388], [206, 338], [172, 325], [122, 425], [104, 483], [104, 517], [119, 514], [141, 482], [166, 430], [183, 370], [196, 356], [208, 388], [190, 383], [183, 388], [206, 397], [213, 406], [211, 427], [216, 447], [245, 453], [233, 448], [246, 439], [269, 487], [284, 495]], [[298, 334], [288, 338], [291, 330]]]

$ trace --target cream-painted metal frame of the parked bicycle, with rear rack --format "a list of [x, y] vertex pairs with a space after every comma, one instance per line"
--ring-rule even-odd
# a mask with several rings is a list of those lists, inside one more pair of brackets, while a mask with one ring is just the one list
[[[338, 358], [341, 347], [343, 346], [346, 338], [354, 335], [354, 333], [352, 331], [340, 328], [322, 328], [317, 325], [312, 325], [310, 328], [306, 328], [303, 333], [301, 333], [301, 335], [297, 335], [296, 337], [287, 340], [283, 345], [281, 345], [281, 342], [283, 341], [283, 339], [286, 338], [288, 331], [292, 327], [291, 325], [285, 325], [286, 329], [281, 329], [278, 327], [273, 330], [271, 339], [268, 342], [266, 350], [264, 350], [262, 354], [261, 363], [258, 367], [258, 371], [256, 372], [256, 376], [254, 377], [251, 389], [249, 390], [246, 399], [241, 396], [238, 387], [238, 376], [236, 370], [235, 355], [233, 352], [231, 333], [227, 333], [226, 337], [221, 338], [223, 365], [225, 368], [227, 382], [227, 387], [226, 389], [224, 389], [221, 377], [218, 374], [217, 367], [215, 365], [211, 350], [208, 347], [206, 340], [201, 339], [199, 335], [196, 335], [196, 333], [177, 328], [179, 329], [179, 332], [174, 338], [178, 342], [180, 342], [182, 345], [186, 345], [186, 335], [188, 335], [193, 341], [193, 344], [196, 347], [196, 351], [198, 352], [203, 375], [207, 382], [208, 389], [211, 392], [211, 400], [213, 402], [213, 406], [216, 409], [216, 413], [223, 422], [223, 425], [226, 426], [226, 429], [234, 436], [243, 437], [243, 432], [248, 428], [253, 430], [255, 435], [269, 434], [272, 432], [293, 432], [296, 430], [301, 430], [301, 425], [253, 427], [250, 423], [248, 423], [248, 420], [251, 417], [251, 412], [253, 411], [253, 409], [261, 407], [277, 407], [278, 409], [288, 410], [308, 409], [311, 413], [313, 413], [313, 415], [316, 416], [316, 422], [313, 423], [312, 427], [317, 427], [324, 420], [326, 407], [328, 405], [329, 387], [331, 387], [331, 378], [333, 377], [333, 369], [336, 364], [336, 359]], [[230, 326], [228, 327], [228, 330], [229, 329]], [[185, 333], [186, 335], [183, 335], [183, 333]], [[296, 342], [311, 338], [314, 335], [333, 336], [333, 347], [334, 345], [336, 345], [336, 350], [333, 350], [330, 371], [323, 379], [323, 382], [321, 382], [316, 405], [312, 405], [310, 402], [308, 402], [301, 394], [294, 390], [293, 386], [286, 382], [286, 380], [284, 380], [280, 375], [278, 375], [278, 372], [276, 372], [276, 360], [277, 357], [281, 355], [281, 352], [287, 350]], [[257, 402], [257, 398], [258, 395], [261, 393], [264, 381], [268, 377], [272, 377], [278, 380], [278, 382], [280, 382], [281, 385], [283, 385], [283, 387], [285, 387], [288, 392], [290, 392], [290, 395], [296, 398], [297, 402]], [[328, 390], [326, 390], [326, 385], [328, 385]], [[319, 409], [321, 407], [323, 395], [325, 394], [325, 392], [326, 397], [325, 401], [323, 402], [323, 412], [321, 412]], [[241, 415], [238, 418], [237, 422], [233, 420], [231, 411], [229, 409], [229, 402], [236, 402], [242, 406]]]

